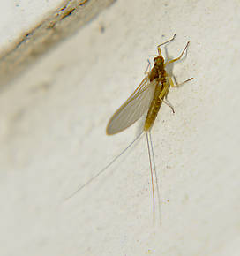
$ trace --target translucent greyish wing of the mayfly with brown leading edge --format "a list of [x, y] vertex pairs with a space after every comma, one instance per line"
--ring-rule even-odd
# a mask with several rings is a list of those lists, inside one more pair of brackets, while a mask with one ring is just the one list
[[106, 132], [108, 135], [122, 132], [134, 124], [149, 109], [154, 98], [156, 82], [150, 83], [148, 77], [142, 80], [139, 87], [124, 104], [116, 110], [109, 120]]

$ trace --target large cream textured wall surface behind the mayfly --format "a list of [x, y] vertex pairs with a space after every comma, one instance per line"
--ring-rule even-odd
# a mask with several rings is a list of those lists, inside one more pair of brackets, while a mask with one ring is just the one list
[[[131, 2], [131, 3], [130, 3]], [[117, 1], [0, 92], [1, 255], [239, 255], [239, 1]], [[161, 183], [153, 225], [145, 137], [107, 137], [147, 58], [188, 55], [152, 130]], [[166, 53], [163, 50], [163, 53]]]

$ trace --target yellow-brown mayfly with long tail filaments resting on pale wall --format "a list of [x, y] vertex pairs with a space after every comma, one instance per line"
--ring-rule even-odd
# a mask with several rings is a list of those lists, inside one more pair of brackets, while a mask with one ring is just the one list
[[[173, 38], [169, 41], [173, 41], [176, 37], [174, 34]], [[146, 111], [146, 120], [143, 127], [143, 131], [134, 139], [131, 144], [124, 149], [121, 154], [118, 154], [112, 162], [104, 168], [101, 169], [94, 177], [92, 177], [86, 184], [89, 184], [94, 180], [95, 177], [98, 177], [104, 170], [108, 169], [109, 166], [116, 161], [116, 159], [124, 154], [124, 152], [131, 147], [131, 145], [139, 139], [143, 132], [146, 132], [146, 141], [147, 141], [147, 150], [148, 150], [148, 157], [150, 162], [150, 170], [151, 170], [151, 181], [152, 181], [152, 196], [153, 196], [153, 208], [155, 209], [155, 202], [154, 202], [154, 177], [155, 177], [155, 184], [157, 188], [157, 198], [159, 201], [160, 206], [160, 192], [159, 192], [159, 185], [158, 180], [155, 172], [155, 163], [154, 163], [154, 149], [153, 143], [151, 139], [151, 128], [154, 124], [155, 118], [161, 108], [162, 102], [166, 103], [174, 112], [173, 107], [167, 100], [167, 96], [169, 94], [170, 87], [177, 87], [178, 84], [174, 84], [171, 74], [166, 72], [165, 67], [168, 64], [172, 64], [179, 60], [183, 55], [186, 49], [188, 48], [189, 41], [187, 42], [184, 50], [180, 54], [180, 56], [165, 62], [163, 56], [161, 55], [161, 46], [168, 43], [169, 41], [165, 41], [158, 45], [158, 55], [154, 57], [154, 66], [150, 70], [150, 72], [146, 73], [146, 77], [142, 80], [139, 84], [139, 87], [135, 89], [135, 91], [131, 94], [131, 96], [124, 102], [124, 104], [116, 110], [113, 116], [109, 120], [109, 124], [107, 125], [106, 133], [108, 135], [113, 135], [118, 132], [124, 131], [126, 128], [134, 124], [136, 121], [142, 117]], [[150, 66], [150, 62], [148, 61], [148, 65]], [[192, 78], [191, 78], [192, 79]], [[191, 79], [185, 80], [183, 83], [190, 81]], [[182, 84], [183, 84], [182, 83]], [[76, 192], [79, 192], [83, 187], [86, 186], [83, 184]], [[72, 194], [72, 195], [73, 195]], [[71, 195], [71, 196], [72, 196]]]

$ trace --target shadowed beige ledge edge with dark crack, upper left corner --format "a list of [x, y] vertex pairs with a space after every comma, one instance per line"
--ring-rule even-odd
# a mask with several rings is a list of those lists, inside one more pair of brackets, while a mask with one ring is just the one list
[[116, 0], [70, 0], [62, 8], [49, 14], [49, 18], [23, 34], [11, 49], [0, 53], [0, 90], [57, 42], [74, 34], [115, 2]]

